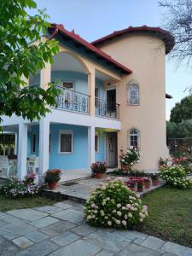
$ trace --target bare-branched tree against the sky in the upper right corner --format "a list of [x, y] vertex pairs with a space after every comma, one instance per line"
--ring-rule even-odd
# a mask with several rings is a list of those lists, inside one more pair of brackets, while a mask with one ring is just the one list
[[160, 6], [165, 12], [164, 26], [175, 37], [172, 57], [178, 63], [191, 62], [192, 57], [192, 0], [164, 0]]

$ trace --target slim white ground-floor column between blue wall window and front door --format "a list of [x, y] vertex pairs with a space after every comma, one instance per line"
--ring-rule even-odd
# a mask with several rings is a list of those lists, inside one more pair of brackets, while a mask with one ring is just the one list
[[88, 127], [88, 168], [95, 163], [95, 126]]

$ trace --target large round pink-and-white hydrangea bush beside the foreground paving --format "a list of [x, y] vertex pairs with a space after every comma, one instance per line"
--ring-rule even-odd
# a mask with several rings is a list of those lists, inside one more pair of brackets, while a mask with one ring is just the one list
[[84, 205], [84, 218], [90, 225], [131, 228], [148, 216], [148, 207], [121, 180], [97, 188]]

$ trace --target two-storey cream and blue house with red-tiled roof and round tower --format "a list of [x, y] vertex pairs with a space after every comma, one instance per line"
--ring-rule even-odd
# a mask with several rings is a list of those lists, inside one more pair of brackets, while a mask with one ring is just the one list
[[39, 176], [54, 168], [89, 175], [97, 160], [119, 166], [120, 149], [130, 146], [141, 153], [138, 170], [157, 171], [159, 157], [168, 156], [165, 63], [172, 35], [129, 27], [90, 44], [52, 24], [42, 40], [49, 38], [59, 41], [60, 53], [28, 85], [55, 83], [57, 108], [39, 122], [3, 117], [3, 131], [15, 134], [17, 175], [26, 175], [30, 155], [38, 158]]

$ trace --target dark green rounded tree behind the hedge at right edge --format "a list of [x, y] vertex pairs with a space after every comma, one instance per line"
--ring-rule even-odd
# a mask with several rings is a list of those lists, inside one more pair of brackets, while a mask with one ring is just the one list
[[171, 111], [171, 122], [180, 123], [187, 119], [192, 119], [192, 96], [184, 97]]

